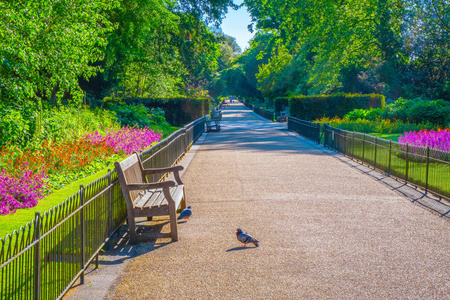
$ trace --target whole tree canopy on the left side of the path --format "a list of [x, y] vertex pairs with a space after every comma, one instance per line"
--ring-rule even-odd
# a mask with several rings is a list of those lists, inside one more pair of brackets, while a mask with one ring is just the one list
[[201, 92], [218, 67], [232, 0], [0, 0], [0, 96], [89, 97]]

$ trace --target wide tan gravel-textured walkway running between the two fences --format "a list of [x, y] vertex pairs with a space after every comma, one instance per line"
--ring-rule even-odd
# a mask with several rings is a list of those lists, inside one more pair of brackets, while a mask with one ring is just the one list
[[[105, 264], [116, 280], [102, 297], [449, 299], [448, 218], [335, 156], [241, 104], [225, 108], [183, 176], [194, 214], [180, 240], [119, 248], [133, 254]], [[260, 247], [242, 247], [237, 227]], [[77, 295], [87, 294], [67, 298]]]

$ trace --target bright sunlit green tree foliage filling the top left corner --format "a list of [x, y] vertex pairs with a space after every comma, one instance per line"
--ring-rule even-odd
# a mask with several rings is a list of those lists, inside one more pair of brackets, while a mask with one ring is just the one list
[[99, 70], [107, 11], [118, 1], [3, 1], [0, 16], [0, 96], [10, 101], [63, 97], [81, 102], [79, 77]]

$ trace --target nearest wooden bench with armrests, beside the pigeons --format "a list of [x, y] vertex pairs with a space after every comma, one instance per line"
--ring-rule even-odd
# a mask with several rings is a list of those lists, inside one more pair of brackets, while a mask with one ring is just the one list
[[[169, 215], [170, 237], [178, 240], [177, 208], [186, 208], [184, 185], [179, 171], [183, 166], [158, 169], [144, 169], [137, 153], [121, 162], [115, 162], [122, 193], [125, 198], [128, 213], [128, 226], [131, 242], [144, 240], [136, 233], [135, 218]], [[173, 173], [175, 181], [147, 182], [148, 175]]]

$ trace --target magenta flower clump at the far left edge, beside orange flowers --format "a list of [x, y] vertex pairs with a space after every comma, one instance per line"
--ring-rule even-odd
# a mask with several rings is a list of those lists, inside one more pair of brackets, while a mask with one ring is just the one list
[[17, 179], [8, 176], [6, 171], [0, 173], [0, 215], [15, 213], [19, 208], [36, 206], [44, 197], [46, 188], [45, 171], [33, 173], [25, 170]]

